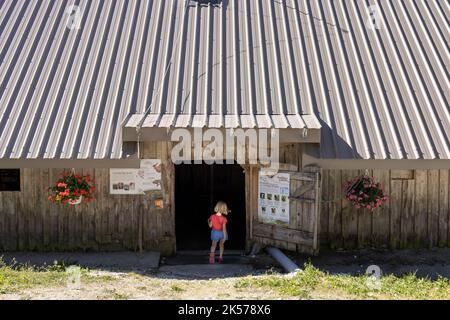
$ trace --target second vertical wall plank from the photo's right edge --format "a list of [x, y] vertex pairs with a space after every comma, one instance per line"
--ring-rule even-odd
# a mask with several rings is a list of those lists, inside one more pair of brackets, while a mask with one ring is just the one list
[[428, 171], [428, 245], [438, 245], [439, 235], [439, 170]]

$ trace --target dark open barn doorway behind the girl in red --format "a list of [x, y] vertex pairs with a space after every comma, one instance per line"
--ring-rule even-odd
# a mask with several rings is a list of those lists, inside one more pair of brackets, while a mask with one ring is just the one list
[[207, 224], [217, 201], [225, 201], [228, 235], [225, 248], [245, 248], [245, 174], [234, 165], [178, 165], [175, 169], [175, 229], [177, 250], [207, 250], [211, 245]]

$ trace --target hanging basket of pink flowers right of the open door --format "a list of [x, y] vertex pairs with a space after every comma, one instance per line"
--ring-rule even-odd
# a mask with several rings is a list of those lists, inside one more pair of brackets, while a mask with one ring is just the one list
[[373, 211], [388, 201], [388, 195], [383, 191], [381, 183], [368, 175], [355, 177], [345, 186], [345, 198], [356, 209], [368, 209]]

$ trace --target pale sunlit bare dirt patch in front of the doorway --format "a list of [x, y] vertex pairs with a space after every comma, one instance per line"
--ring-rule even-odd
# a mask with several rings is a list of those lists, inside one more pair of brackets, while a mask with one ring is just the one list
[[240, 277], [185, 280], [166, 273], [138, 274], [114, 271], [91, 271], [78, 288], [36, 287], [0, 295], [0, 300], [228, 300], [289, 299], [277, 291], [259, 288], [236, 288]]

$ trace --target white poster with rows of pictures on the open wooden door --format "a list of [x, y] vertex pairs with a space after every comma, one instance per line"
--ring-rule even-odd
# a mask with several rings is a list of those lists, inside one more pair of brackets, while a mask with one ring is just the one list
[[263, 223], [289, 226], [289, 174], [274, 176], [260, 172], [258, 220]]

